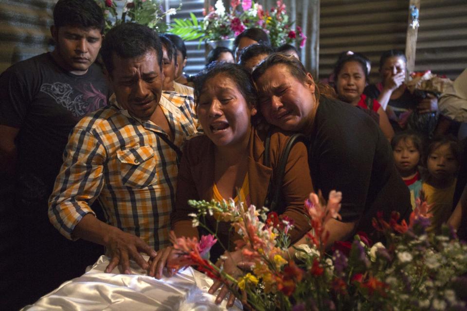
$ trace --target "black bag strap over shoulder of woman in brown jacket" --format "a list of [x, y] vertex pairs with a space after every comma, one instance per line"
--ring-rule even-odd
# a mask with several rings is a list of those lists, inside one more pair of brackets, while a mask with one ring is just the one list
[[[263, 157], [263, 164], [270, 167], [270, 159], [269, 159], [269, 145], [270, 145], [270, 138], [271, 132], [268, 132], [264, 143], [264, 157]], [[282, 155], [277, 162], [277, 169], [276, 174], [274, 175], [274, 180], [269, 181], [268, 192], [266, 195], [266, 199], [264, 201], [264, 206], [268, 207], [271, 211], [277, 211], [279, 198], [282, 194], [282, 181], [284, 180], [284, 173], [286, 171], [286, 165], [288, 161], [288, 156], [290, 154], [290, 150], [292, 150], [293, 145], [297, 142], [303, 142], [306, 145], [307, 139], [306, 136], [302, 133], [295, 133], [287, 141], [287, 145], [282, 152]]]

